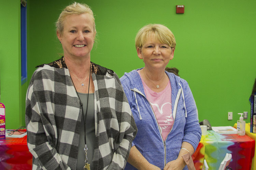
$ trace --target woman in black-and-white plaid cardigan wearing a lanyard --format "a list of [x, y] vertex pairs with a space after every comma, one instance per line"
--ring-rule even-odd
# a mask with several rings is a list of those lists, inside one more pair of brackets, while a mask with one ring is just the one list
[[33, 169], [124, 169], [137, 127], [116, 73], [91, 62], [96, 28], [86, 4], [60, 14], [64, 56], [32, 75], [26, 126]]

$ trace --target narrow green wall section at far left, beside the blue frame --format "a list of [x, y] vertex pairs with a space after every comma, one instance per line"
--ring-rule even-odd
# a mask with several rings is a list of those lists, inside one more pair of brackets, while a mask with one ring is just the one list
[[0, 7], [1, 102], [5, 105], [6, 129], [25, 125], [26, 83], [21, 85], [20, 1], [2, 1]]

